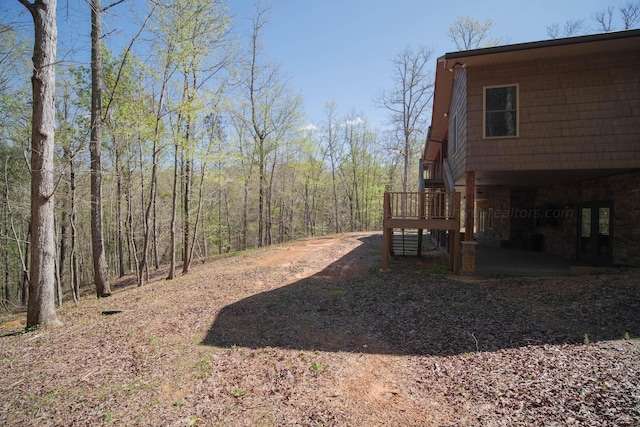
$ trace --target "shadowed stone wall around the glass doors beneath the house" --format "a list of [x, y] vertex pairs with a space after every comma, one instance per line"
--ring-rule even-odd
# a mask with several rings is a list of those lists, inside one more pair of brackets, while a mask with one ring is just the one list
[[553, 205], [562, 217], [555, 226], [541, 225], [544, 251], [576, 257], [578, 204], [613, 202], [613, 263], [640, 266], [640, 171], [538, 189], [536, 205]]

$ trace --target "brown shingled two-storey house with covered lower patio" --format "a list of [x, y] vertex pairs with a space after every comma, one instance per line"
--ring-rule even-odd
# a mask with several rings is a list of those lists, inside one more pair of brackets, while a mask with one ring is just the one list
[[441, 56], [422, 167], [463, 273], [477, 244], [640, 266], [640, 30]]

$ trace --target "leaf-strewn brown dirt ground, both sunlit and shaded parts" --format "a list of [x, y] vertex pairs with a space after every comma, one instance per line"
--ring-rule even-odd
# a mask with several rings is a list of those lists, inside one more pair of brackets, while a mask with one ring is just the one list
[[58, 329], [2, 317], [0, 425], [640, 425], [638, 271], [462, 278], [433, 256], [381, 272], [381, 240], [125, 278]]

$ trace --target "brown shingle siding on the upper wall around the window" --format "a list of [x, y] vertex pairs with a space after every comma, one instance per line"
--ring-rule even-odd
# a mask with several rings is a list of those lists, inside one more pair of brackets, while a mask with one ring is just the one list
[[[640, 53], [464, 71], [468, 170], [640, 167]], [[459, 80], [456, 90], [464, 87]], [[520, 88], [520, 136], [484, 139], [483, 87], [510, 83]]]

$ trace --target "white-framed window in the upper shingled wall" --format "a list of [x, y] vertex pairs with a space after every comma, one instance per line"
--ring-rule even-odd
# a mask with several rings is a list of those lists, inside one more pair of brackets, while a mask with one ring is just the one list
[[518, 85], [484, 88], [484, 137], [518, 136]]

